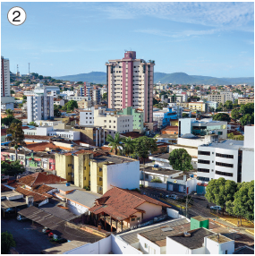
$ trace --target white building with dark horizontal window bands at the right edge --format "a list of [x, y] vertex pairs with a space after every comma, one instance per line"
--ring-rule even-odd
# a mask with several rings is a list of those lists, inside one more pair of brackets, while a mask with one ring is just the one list
[[212, 179], [224, 177], [242, 183], [254, 179], [253, 138], [254, 126], [245, 126], [244, 143], [225, 140], [199, 146], [198, 180], [208, 183]]

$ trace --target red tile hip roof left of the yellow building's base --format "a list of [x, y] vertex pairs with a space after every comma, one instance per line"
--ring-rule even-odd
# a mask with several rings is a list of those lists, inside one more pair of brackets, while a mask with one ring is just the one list
[[27, 175], [19, 179], [20, 183], [35, 187], [42, 184], [65, 183], [66, 180], [56, 175], [46, 175], [46, 173], [36, 173]]

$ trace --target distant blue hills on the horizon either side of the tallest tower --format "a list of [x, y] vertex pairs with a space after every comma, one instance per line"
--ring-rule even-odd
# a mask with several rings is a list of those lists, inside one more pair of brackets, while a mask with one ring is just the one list
[[[65, 75], [54, 77], [55, 79], [63, 81], [89, 81], [93, 83], [106, 84], [105, 72], [90, 72], [80, 73], [73, 75]], [[161, 83], [181, 83], [181, 84], [235, 84], [247, 83], [254, 84], [254, 77], [239, 77], [239, 78], [217, 78], [202, 75], [189, 75], [187, 73], [154, 73], [154, 82], [160, 81]]]

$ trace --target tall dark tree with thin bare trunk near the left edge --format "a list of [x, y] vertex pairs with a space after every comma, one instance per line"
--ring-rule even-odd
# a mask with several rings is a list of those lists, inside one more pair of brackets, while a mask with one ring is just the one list
[[13, 146], [13, 148], [15, 149], [15, 156], [16, 156], [16, 160], [18, 158], [17, 156], [17, 149], [19, 148], [19, 146], [25, 146], [26, 143], [24, 141], [25, 136], [24, 136], [24, 132], [22, 130], [22, 124], [11, 124], [10, 128], [7, 129], [7, 134], [11, 134], [11, 136], [8, 136], [8, 141], [10, 142], [10, 146]]

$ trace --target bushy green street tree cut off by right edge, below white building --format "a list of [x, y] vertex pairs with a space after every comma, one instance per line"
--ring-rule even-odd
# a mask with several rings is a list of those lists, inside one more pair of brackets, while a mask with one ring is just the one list
[[[239, 183], [237, 190], [234, 201], [226, 202], [226, 211], [254, 222], [254, 181]], [[242, 225], [242, 218], [240, 220]]]

